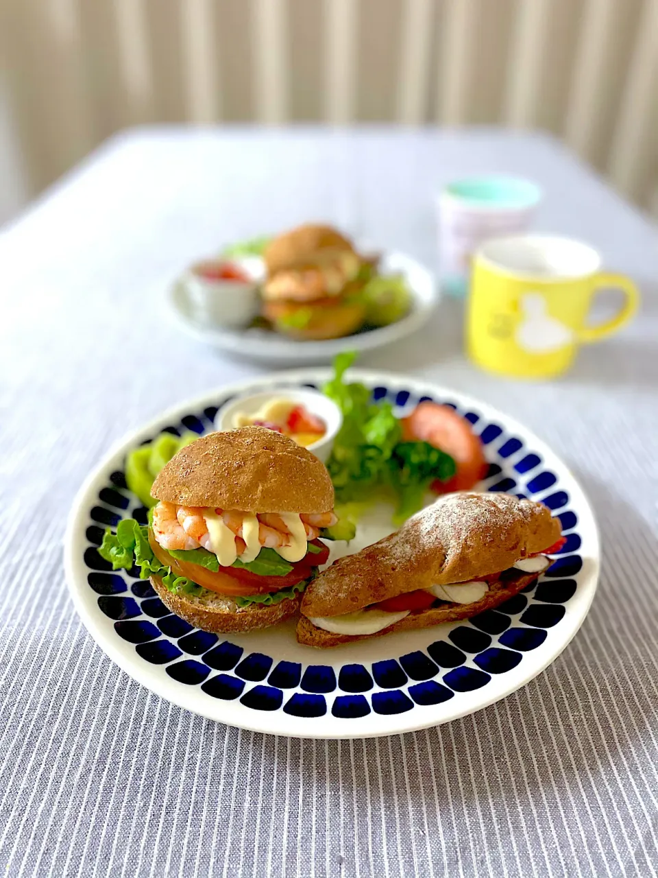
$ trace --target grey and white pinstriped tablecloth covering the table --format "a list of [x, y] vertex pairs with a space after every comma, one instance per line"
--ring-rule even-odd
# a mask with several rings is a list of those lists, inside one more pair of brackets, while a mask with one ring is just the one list
[[[603, 538], [583, 629], [503, 702], [402, 737], [277, 739], [149, 694], [74, 613], [68, 507], [126, 430], [258, 373], [179, 335], [164, 285], [226, 241], [311, 218], [434, 266], [434, 193], [497, 170], [545, 187], [538, 228], [590, 241], [636, 278], [640, 318], [551, 384], [475, 371], [454, 301], [365, 364], [487, 399], [569, 463]], [[658, 235], [647, 219], [532, 134], [145, 129], [111, 140], [6, 228], [0, 266], [6, 874], [656, 873]]]

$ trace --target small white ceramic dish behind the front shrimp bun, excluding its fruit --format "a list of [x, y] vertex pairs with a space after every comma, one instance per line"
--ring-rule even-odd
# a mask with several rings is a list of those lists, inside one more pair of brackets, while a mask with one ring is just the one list
[[285, 389], [272, 390], [261, 393], [248, 394], [232, 399], [222, 406], [215, 415], [215, 428], [218, 430], [232, 430], [236, 428], [234, 418], [237, 414], [253, 416], [260, 412], [262, 407], [273, 399], [290, 399], [298, 406], [304, 406], [311, 414], [315, 414], [325, 422], [326, 433], [318, 442], [307, 446], [321, 461], [325, 461], [331, 453], [333, 440], [340, 430], [343, 416], [340, 408], [333, 399], [329, 399], [324, 393], [310, 388], [297, 389], [286, 387]]

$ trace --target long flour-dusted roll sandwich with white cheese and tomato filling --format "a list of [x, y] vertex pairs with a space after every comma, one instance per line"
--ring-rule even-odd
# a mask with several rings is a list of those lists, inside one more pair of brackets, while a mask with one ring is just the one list
[[304, 593], [297, 640], [337, 646], [477, 615], [537, 579], [563, 543], [540, 503], [446, 494], [320, 573]]

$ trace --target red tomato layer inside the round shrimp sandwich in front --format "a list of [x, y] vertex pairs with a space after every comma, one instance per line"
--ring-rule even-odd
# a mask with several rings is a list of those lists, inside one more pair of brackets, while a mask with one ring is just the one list
[[329, 557], [329, 549], [325, 543], [313, 540], [313, 544], [318, 545], [322, 551], [317, 554], [307, 552], [305, 557], [293, 565], [293, 569], [285, 576], [259, 576], [258, 573], [240, 567], [223, 567], [215, 573], [201, 565], [174, 558], [155, 541], [150, 531], [148, 539], [155, 557], [161, 564], [171, 567], [177, 576], [186, 576], [197, 585], [210, 589], [211, 592], [231, 596], [278, 592], [282, 588], [296, 586], [298, 582], [311, 576], [311, 567], [325, 564]]

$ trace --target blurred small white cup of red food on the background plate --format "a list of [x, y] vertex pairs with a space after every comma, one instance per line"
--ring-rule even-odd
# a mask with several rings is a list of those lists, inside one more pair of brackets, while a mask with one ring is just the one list
[[[235, 264], [248, 281], [204, 276], [205, 267], [222, 262]], [[247, 264], [247, 260], [201, 259], [183, 272], [179, 283], [190, 303], [190, 313], [200, 325], [240, 330], [259, 312], [259, 280], [257, 266]]]

